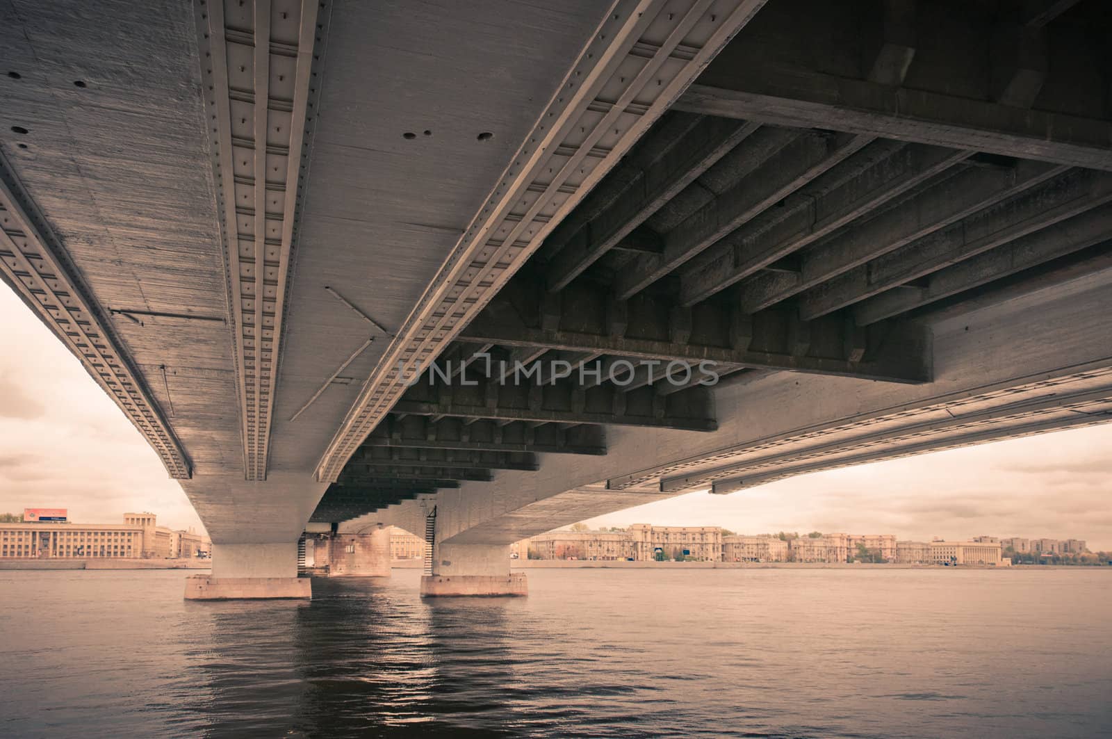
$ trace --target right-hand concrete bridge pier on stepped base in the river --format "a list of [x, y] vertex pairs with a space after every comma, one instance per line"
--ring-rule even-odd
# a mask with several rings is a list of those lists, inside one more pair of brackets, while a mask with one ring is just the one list
[[420, 579], [420, 594], [527, 595], [524, 572], [509, 571], [509, 544], [437, 544], [433, 574]]

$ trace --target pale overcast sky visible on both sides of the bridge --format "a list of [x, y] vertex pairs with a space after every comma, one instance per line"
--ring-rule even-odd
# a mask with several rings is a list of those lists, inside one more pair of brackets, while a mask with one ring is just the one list
[[[76, 521], [151, 511], [201, 528], [146, 440], [80, 363], [0, 286], [0, 512], [66, 508]], [[693, 493], [594, 519], [841, 531], [901, 539], [1085, 539], [1112, 550], [1112, 424], [865, 464], [733, 495]]]

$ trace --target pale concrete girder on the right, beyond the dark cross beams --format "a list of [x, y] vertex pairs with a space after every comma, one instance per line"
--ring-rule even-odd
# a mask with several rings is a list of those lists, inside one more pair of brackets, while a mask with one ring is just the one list
[[[1110, 308], [1112, 268], [937, 322], [929, 385], [778, 373], [723, 387], [713, 436], [623, 430], [609, 435], [606, 456], [584, 457], [574, 470], [542, 464], [538, 473], [440, 491], [438, 541], [508, 545], [692, 490], [733, 492], [861, 460], [1106, 423]], [[408, 510], [393, 506], [342, 529], [390, 520], [395, 508]]]

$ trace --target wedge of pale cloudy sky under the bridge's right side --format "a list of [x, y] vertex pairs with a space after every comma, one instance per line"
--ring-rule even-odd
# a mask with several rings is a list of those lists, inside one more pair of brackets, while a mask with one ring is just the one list
[[722, 525], [738, 532], [1084, 539], [1112, 550], [1112, 424], [817, 472], [731, 495], [691, 493], [592, 525]]

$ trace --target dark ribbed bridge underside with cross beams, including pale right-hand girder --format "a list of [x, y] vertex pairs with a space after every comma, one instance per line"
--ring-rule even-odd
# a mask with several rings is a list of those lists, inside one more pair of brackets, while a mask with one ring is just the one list
[[[358, 511], [364, 471], [500, 452], [439, 489], [438, 530], [506, 544], [687, 491], [1112, 420], [1108, 88], [1078, 75], [1106, 69], [1106, 21], [1090, 3], [858, 4], [768, 3], [325, 500]], [[507, 380], [536, 359], [569, 376]], [[714, 387], [666, 375], [706, 359]], [[429, 503], [398, 497], [345, 528], [418, 530]]]

